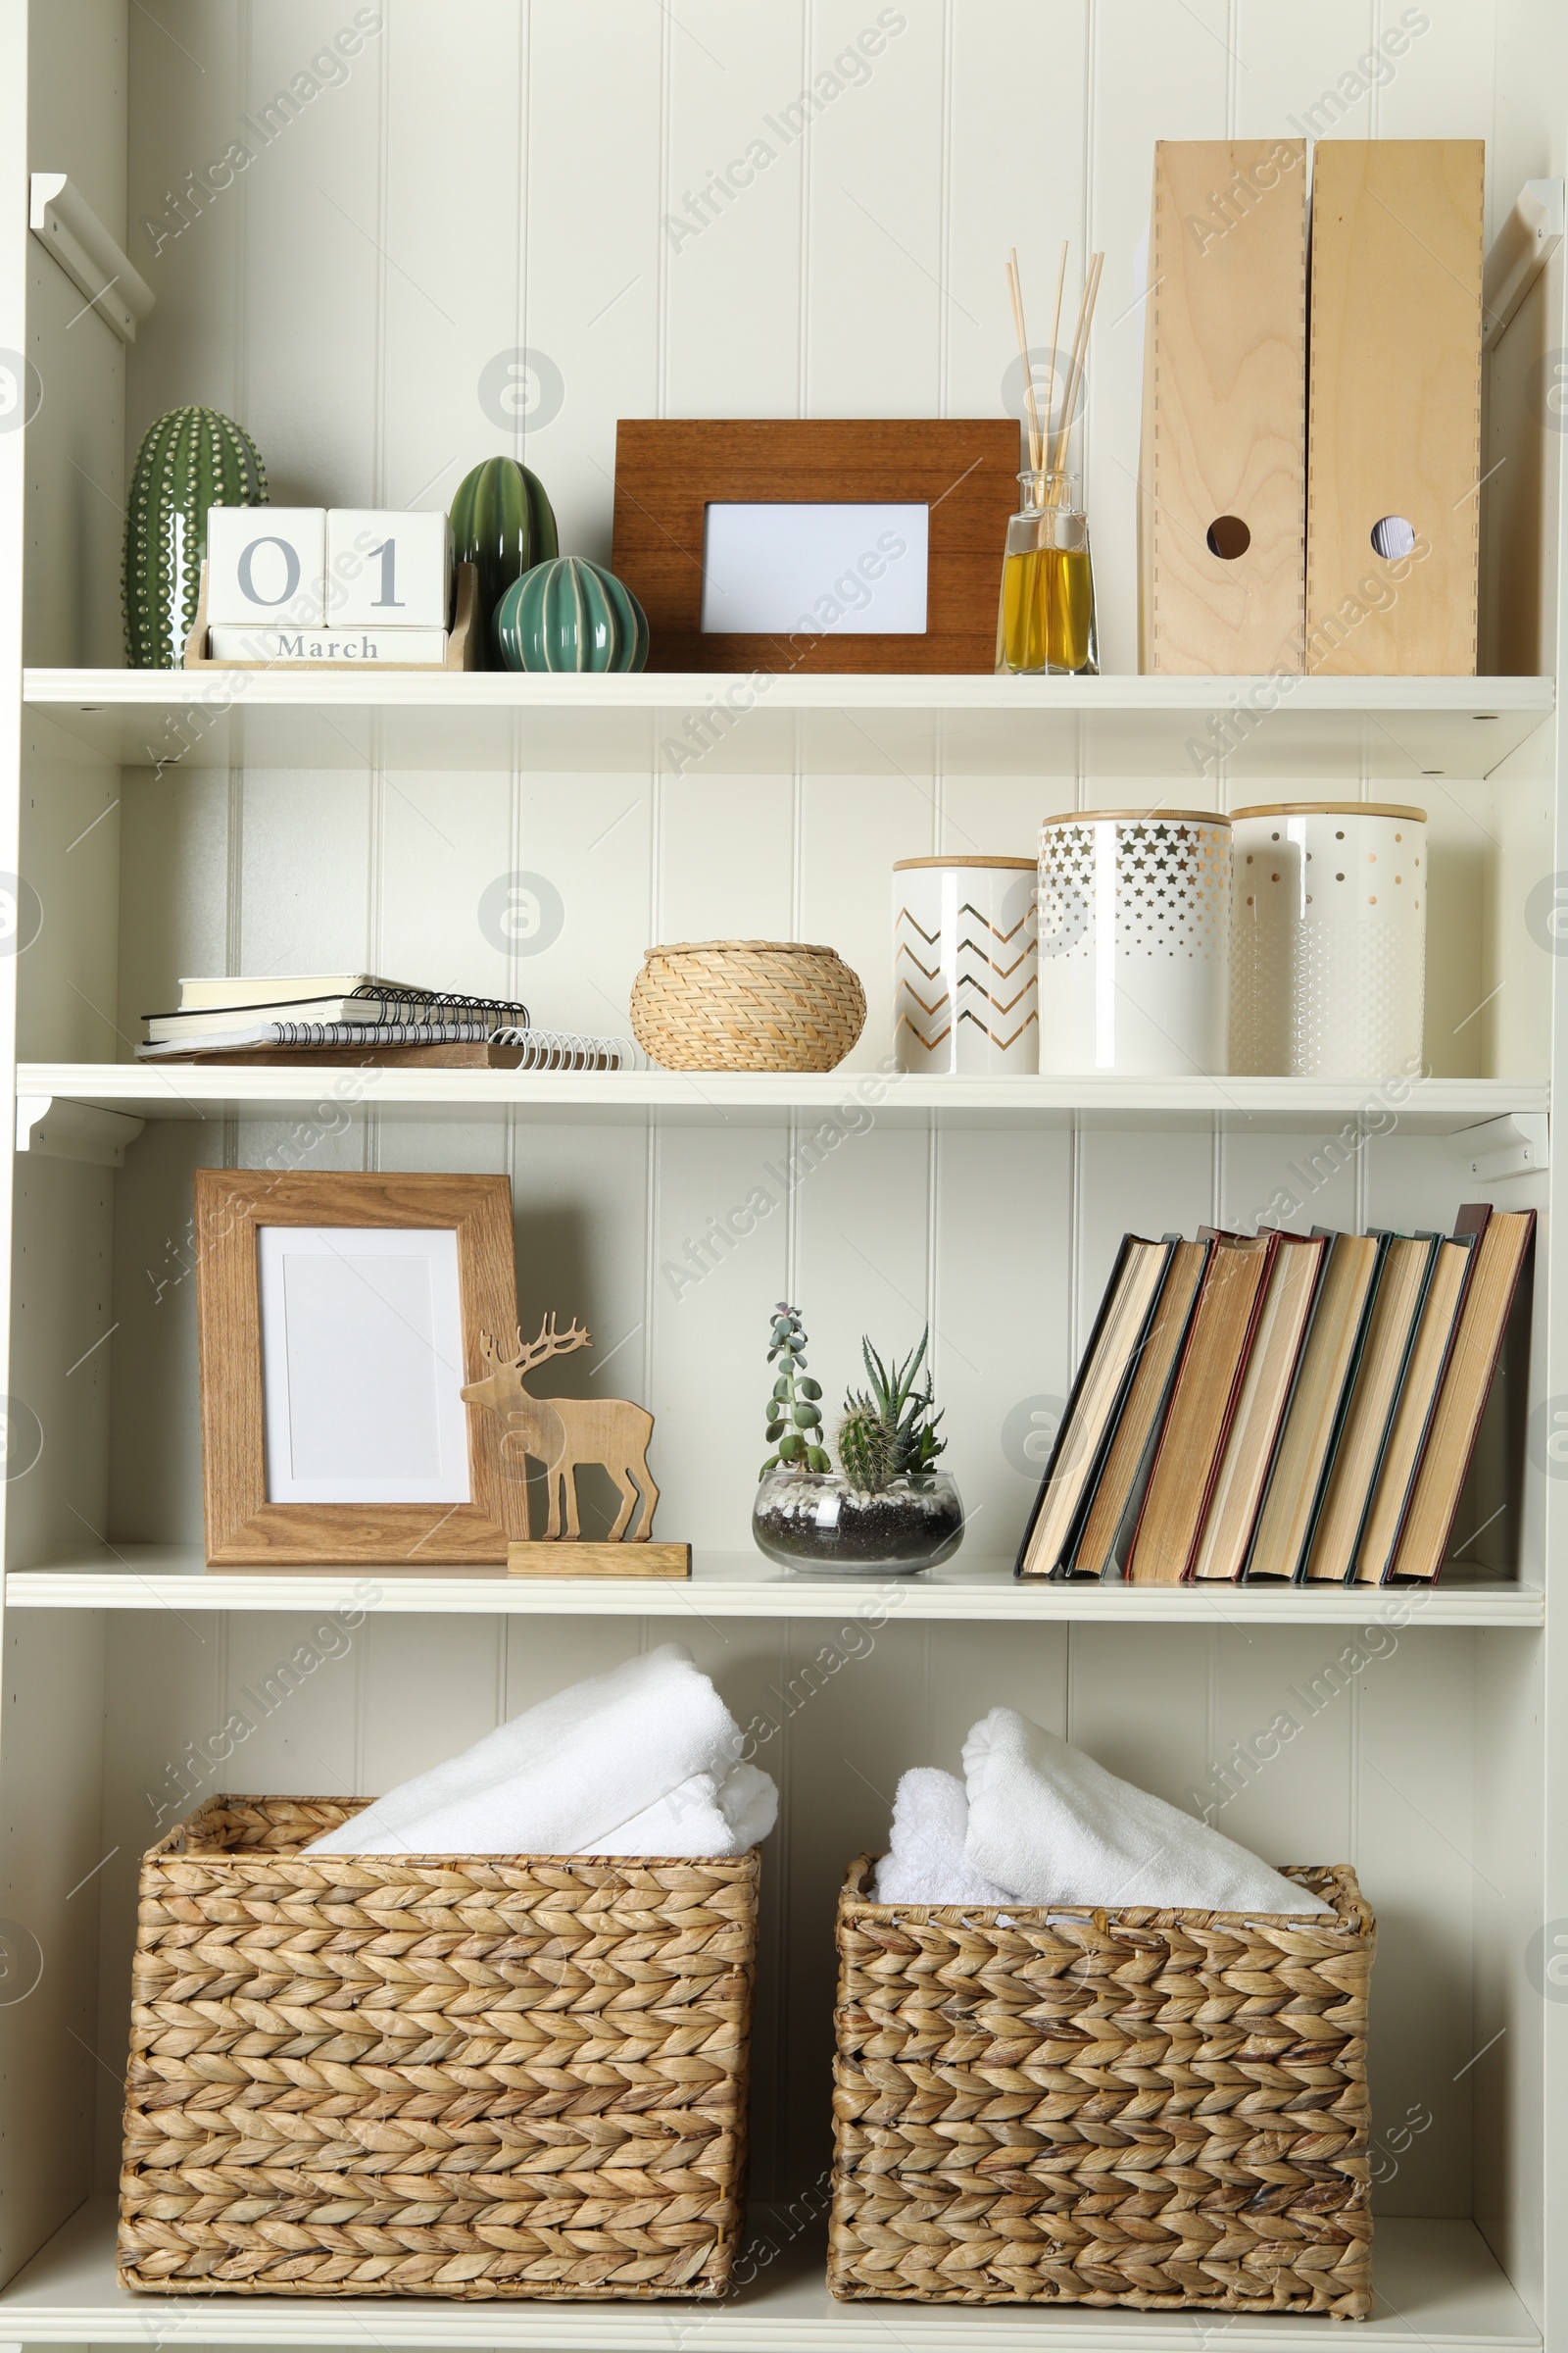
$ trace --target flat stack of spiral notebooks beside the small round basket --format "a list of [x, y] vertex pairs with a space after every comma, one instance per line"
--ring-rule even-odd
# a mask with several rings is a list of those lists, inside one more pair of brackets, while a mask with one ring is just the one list
[[529, 1028], [529, 1007], [409, 988], [374, 972], [190, 979], [143, 1014], [139, 1061], [355, 1061], [463, 1071], [625, 1071], [623, 1038]]

